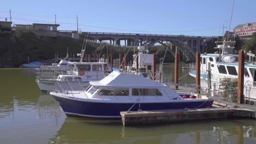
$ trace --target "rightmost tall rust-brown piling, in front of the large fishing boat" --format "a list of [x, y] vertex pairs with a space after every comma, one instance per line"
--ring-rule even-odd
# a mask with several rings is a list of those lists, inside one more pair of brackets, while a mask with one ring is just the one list
[[243, 79], [245, 73], [245, 52], [238, 52], [238, 89], [237, 89], [237, 104], [243, 103]]

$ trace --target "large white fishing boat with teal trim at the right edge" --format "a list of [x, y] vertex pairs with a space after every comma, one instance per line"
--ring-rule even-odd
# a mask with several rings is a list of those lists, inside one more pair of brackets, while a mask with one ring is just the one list
[[[221, 43], [216, 49], [222, 50], [219, 53], [205, 53], [201, 54], [201, 67], [200, 67], [200, 81], [201, 87], [208, 88], [208, 67], [211, 68], [211, 87], [213, 83], [217, 85], [217, 92], [227, 92], [228, 97], [235, 97], [237, 89], [231, 89], [230, 80], [235, 81], [238, 79], [238, 55], [230, 54], [234, 49], [235, 41], [218, 41]], [[219, 62], [220, 60], [220, 62]], [[210, 65], [209, 65], [210, 64]], [[196, 77], [195, 63], [190, 64], [191, 76]], [[223, 86], [225, 85], [225, 86]], [[223, 88], [225, 87], [225, 89]], [[230, 93], [228, 93], [230, 92]], [[251, 100], [256, 100], [256, 63], [245, 62], [245, 75], [244, 75], [244, 95], [246, 103], [254, 104]]]

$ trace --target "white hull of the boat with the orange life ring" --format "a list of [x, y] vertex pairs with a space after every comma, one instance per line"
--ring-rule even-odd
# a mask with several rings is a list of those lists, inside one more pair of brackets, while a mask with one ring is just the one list
[[[42, 91], [42, 92], [46, 92], [46, 93], [49, 93], [49, 92], [53, 92], [53, 91], [61, 91], [62, 89], [64, 91], [83, 91], [83, 88], [87, 88], [90, 83], [89, 82], [56, 82], [56, 81], [53, 81], [53, 80], [38, 80], [36, 79], [36, 82], [37, 82], [37, 85], [39, 87], [39, 89]], [[81, 87], [82, 85], [82, 87]], [[72, 88], [73, 89], [72, 89]]]

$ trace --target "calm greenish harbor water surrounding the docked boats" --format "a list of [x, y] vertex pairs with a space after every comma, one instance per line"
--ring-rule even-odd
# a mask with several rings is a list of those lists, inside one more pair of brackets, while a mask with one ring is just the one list
[[[192, 86], [189, 64], [179, 65], [181, 85]], [[174, 64], [163, 67], [172, 83]], [[212, 119], [123, 127], [121, 119], [66, 117], [37, 87], [34, 69], [0, 69], [0, 143], [256, 143], [256, 121]]]

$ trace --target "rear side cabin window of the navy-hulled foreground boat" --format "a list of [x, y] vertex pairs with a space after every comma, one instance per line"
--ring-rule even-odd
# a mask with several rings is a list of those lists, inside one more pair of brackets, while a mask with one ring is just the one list
[[162, 96], [162, 93], [157, 88], [132, 88], [132, 95]]

